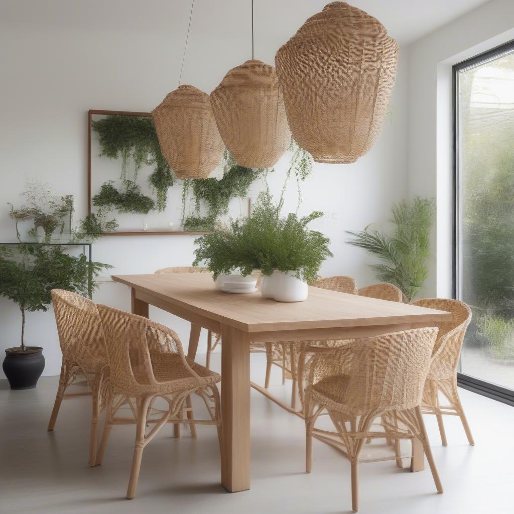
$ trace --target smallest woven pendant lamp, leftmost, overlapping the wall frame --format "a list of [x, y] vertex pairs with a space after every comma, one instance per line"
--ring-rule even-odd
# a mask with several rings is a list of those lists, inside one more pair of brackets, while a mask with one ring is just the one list
[[219, 166], [225, 145], [207, 93], [179, 86], [152, 117], [161, 151], [178, 178], [207, 178]]

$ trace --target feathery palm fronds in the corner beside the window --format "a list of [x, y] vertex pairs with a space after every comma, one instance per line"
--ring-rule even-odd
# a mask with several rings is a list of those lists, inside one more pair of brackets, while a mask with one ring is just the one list
[[391, 208], [392, 234], [370, 225], [347, 243], [362, 248], [382, 261], [371, 267], [382, 282], [398, 286], [411, 301], [428, 276], [430, 228], [434, 218], [433, 200], [416, 196], [412, 203], [400, 201]]

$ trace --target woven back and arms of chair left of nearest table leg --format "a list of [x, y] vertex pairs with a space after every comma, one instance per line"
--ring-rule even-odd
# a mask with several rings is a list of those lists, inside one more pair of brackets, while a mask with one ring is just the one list
[[122, 391], [155, 392], [162, 380], [201, 378], [191, 369], [177, 334], [123, 310], [98, 305], [113, 385]]

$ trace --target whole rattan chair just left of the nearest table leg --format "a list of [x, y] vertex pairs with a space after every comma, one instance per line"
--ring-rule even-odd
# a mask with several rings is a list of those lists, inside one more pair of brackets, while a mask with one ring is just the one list
[[[131, 499], [136, 492], [143, 449], [164, 424], [215, 425], [221, 443], [221, 413], [216, 387], [221, 376], [187, 358], [180, 339], [170, 328], [106, 305], [98, 305], [98, 311], [111, 372], [105, 426], [96, 463], [102, 463], [112, 426], [127, 423], [125, 418], [116, 417], [115, 394], [135, 397], [136, 442], [126, 494]], [[211, 419], [183, 419], [183, 403], [193, 393], [204, 400]], [[157, 398], [166, 401], [167, 406], [156, 409], [160, 417], [151, 419]], [[146, 434], [146, 424], [152, 423], [154, 427]]]

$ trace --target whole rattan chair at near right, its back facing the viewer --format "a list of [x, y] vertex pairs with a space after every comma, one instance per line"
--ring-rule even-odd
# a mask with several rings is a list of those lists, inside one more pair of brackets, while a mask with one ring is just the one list
[[366, 439], [383, 438], [383, 432], [371, 430], [372, 424], [389, 413], [407, 427], [389, 430], [389, 437], [415, 437], [423, 444], [437, 491], [443, 492], [420, 407], [436, 336], [437, 328], [415, 328], [357, 339], [313, 357], [305, 389], [305, 470], [311, 471], [313, 431], [326, 409], [337, 430], [331, 434], [351, 463], [354, 512], [359, 507], [360, 452]]

